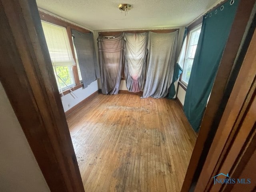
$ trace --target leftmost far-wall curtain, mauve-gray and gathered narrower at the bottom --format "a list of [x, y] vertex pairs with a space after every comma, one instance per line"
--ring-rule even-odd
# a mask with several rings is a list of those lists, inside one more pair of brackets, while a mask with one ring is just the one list
[[118, 36], [99, 36], [99, 62], [103, 94], [118, 94], [124, 62], [124, 38]]

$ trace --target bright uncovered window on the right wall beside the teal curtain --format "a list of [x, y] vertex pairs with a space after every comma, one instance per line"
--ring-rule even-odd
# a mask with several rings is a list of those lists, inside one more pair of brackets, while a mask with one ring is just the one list
[[185, 58], [182, 78], [181, 78], [181, 81], [186, 85], [188, 85], [188, 80], [190, 78], [190, 72], [191, 72], [193, 61], [194, 61], [194, 56], [196, 53], [200, 32], [201, 32], [201, 26], [190, 31], [188, 46], [186, 50], [186, 58]]

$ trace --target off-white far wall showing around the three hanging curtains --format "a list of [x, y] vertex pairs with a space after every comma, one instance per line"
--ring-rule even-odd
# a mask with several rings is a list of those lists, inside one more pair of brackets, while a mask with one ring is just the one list
[[[178, 28], [179, 29], [179, 36], [178, 36], [178, 42], [177, 42], [177, 51], [176, 51], [176, 56], [175, 56], [175, 61], [177, 61], [178, 56], [180, 54], [180, 49], [182, 46], [182, 40], [183, 40], [183, 34], [185, 31], [185, 27], [174, 27], [174, 28]], [[167, 29], [167, 28], [140, 28], [140, 29], [129, 29], [129, 30], [154, 30], [154, 29]], [[170, 29], [170, 28], [168, 28]], [[97, 61], [99, 61], [99, 57], [98, 57], [98, 44], [97, 44], [97, 38], [98, 38], [98, 32], [100, 31], [104, 31], [104, 30], [98, 30], [98, 31], [94, 31], [94, 44], [95, 44], [95, 49], [96, 49], [96, 56], [97, 56]], [[111, 31], [122, 31], [122, 30], [108, 30], [108, 32]], [[98, 80], [98, 85], [99, 88], [101, 89], [101, 84], [100, 84], [100, 79]], [[177, 85], [177, 84], [176, 84]], [[125, 80], [121, 80], [121, 84], [120, 84], [120, 88], [119, 90], [127, 90], [126, 88], [126, 82]]]

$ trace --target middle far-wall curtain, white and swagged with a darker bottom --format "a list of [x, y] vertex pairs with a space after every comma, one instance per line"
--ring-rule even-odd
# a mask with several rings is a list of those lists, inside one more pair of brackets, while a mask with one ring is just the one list
[[126, 87], [130, 92], [140, 92], [145, 80], [148, 32], [124, 33], [124, 40]]

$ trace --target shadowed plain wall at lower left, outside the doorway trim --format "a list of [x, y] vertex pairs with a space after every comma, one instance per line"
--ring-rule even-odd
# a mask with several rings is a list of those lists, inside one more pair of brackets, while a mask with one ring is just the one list
[[0, 191], [50, 192], [0, 83]]

